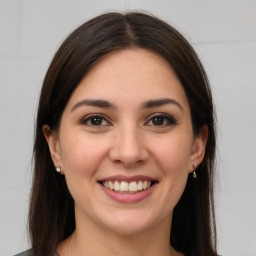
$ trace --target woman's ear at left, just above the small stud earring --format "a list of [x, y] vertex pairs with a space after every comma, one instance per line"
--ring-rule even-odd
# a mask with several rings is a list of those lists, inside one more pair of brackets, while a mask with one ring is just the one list
[[48, 125], [43, 125], [42, 130], [48, 143], [54, 165], [56, 167], [61, 166], [60, 145], [56, 132], [51, 131], [51, 128]]

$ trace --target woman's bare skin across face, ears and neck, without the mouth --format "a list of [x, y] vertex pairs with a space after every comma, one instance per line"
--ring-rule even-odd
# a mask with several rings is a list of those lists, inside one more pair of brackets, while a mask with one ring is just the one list
[[[167, 98], [176, 103], [142, 107]], [[96, 124], [91, 114], [104, 118]], [[77, 228], [59, 244], [59, 255], [182, 255], [169, 243], [172, 211], [204, 157], [207, 127], [194, 136], [184, 89], [166, 60], [144, 49], [106, 55], [72, 94], [58, 133], [43, 131], [75, 200]], [[112, 175], [146, 175], [157, 185], [140, 202], [120, 203], [98, 182]]]

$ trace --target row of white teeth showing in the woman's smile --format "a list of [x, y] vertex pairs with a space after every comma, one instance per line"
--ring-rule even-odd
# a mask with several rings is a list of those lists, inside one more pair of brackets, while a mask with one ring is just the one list
[[132, 181], [130, 183], [126, 181], [103, 181], [102, 185], [111, 190], [117, 192], [137, 192], [141, 190], [148, 189], [151, 185], [151, 181]]

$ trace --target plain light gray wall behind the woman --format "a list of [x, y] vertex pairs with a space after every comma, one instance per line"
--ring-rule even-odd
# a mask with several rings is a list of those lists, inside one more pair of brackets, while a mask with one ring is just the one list
[[0, 255], [26, 235], [33, 123], [49, 62], [85, 20], [144, 9], [180, 30], [208, 72], [218, 114], [219, 253], [256, 255], [255, 0], [0, 0]]

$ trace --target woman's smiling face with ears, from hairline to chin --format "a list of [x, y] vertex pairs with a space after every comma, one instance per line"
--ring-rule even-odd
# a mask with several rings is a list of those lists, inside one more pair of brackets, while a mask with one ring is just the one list
[[69, 99], [58, 134], [47, 129], [76, 221], [122, 234], [170, 228], [207, 137], [193, 136], [188, 100], [172, 68], [144, 49], [102, 58]]

